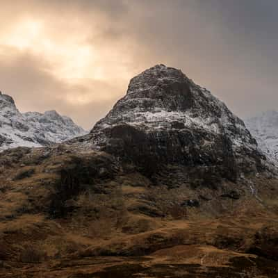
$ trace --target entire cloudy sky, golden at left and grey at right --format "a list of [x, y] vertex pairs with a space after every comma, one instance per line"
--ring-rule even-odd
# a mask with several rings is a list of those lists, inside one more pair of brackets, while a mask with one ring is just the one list
[[156, 64], [240, 117], [278, 110], [277, 0], [1, 1], [0, 90], [85, 129]]

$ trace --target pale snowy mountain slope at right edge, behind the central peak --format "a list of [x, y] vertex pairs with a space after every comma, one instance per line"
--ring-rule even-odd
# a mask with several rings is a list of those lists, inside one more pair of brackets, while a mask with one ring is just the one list
[[247, 128], [267, 156], [278, 159], [278, 112], [267, 111], [245, 120]]

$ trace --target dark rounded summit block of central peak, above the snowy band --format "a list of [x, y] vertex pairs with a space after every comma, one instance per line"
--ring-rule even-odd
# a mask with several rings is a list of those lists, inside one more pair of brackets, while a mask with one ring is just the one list
[[185, 111], [193, 105], [190, 83], [181, 70], [156, 65], [131, 79], [126, 97], [150, 111]]

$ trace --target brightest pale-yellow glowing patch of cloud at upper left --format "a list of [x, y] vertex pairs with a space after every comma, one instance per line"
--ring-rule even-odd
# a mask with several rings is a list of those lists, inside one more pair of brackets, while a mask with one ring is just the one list
[[91, 44], [84, 42], [86, 34], [71, 33], [69, 28], [69, 32], [64, 30], [66, 38], [58, 38], [57, 31], [49, 30], [47, 22], [40, 19], [26, 18], [3, 32], [1, 44], [42, 56], [60, 79], [103, 78], [99, 70], [92, 72], [95, 52]]

